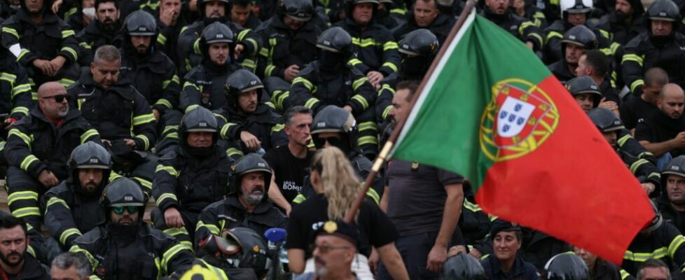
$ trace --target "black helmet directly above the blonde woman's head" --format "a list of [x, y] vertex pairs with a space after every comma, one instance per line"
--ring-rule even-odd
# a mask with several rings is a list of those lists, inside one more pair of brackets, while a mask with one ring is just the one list
[[321, 132], [339, 132], [340, 143], [335, 144], [343, 153], [357, 151], [357, 123], [352, 113], [335, 105], [328, 105], [321, 109], [312, 120], [312, 139], [317, 148], [322, 148], [316, 134]]

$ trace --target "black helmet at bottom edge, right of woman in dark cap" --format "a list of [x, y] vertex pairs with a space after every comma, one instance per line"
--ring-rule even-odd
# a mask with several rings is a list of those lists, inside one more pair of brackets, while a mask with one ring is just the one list
[[574, 253], [560, 253], [545, 265], [548, 280], [590, 280], [588, 266]]

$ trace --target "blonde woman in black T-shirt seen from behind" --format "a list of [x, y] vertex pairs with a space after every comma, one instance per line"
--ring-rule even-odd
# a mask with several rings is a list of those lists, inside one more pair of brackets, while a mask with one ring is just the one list
[[[305, 261], [312, 256], [310, 248], [314, 232], [323, 227], [326, 221], [342, 221], [361, 190], [357, 173], [338, 148], [328, 147], [317, 151], [310, 169], [310, 181], [316, 195], [293, 207], [287, 227], [289, 267], [295, 273], [314, 271], [314, 260]], [[365, 201], [361, 204], [354, 225], [359, 230], [360, 242], [359, 253], [352, 262], [352, 271], [359, 279], [373, 279], [367, 263], [372, 248], [378, 251], [393, 279], [409, 279], [401, 255], [395, 248], [397, 232], [394, 225], [374, 202]], [[320, 258], [316, 261], [319, 266], [325, 267]]]

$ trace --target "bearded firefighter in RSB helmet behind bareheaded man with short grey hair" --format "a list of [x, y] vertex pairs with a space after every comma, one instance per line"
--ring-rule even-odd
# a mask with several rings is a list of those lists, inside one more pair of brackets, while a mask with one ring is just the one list
[[178, 106], [179, 76], [174, 62], [155, 48], [158, 27], [152, 15], [137, 10], [124, 24], [121, 76], [127, 78], [152, 105], [155, 119]]

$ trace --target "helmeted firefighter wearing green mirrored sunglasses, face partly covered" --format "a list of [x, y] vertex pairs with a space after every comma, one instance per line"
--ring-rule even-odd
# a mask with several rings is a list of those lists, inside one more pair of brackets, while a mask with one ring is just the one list
[[130, 179], [109, 183], [100, 200], [106, 222], [74, 240], [99, 279], [160, 279], [193, 264], [193, 252], [143, 220], [140, 187]]

